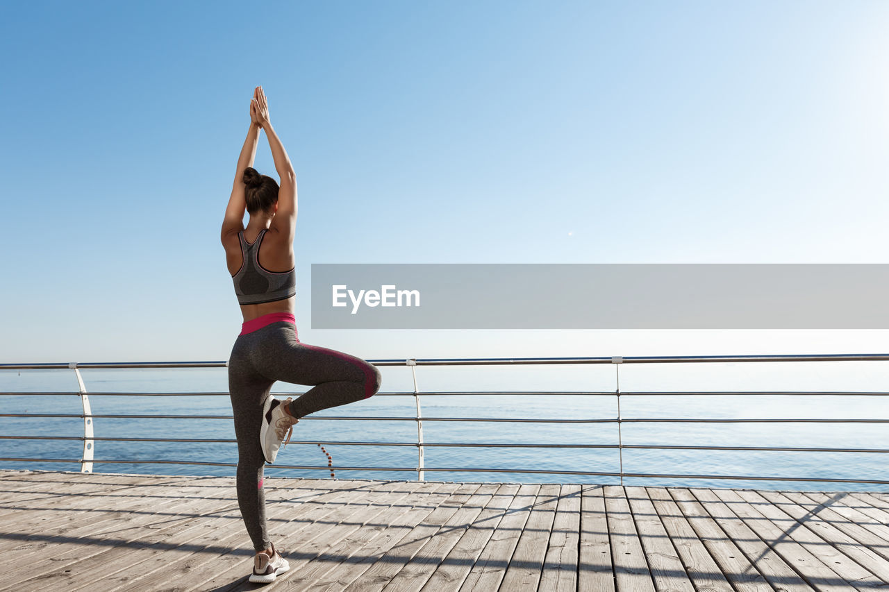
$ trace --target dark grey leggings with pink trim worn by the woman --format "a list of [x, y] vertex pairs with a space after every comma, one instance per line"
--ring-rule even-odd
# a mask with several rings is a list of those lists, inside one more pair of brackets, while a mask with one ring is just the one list
[[[237, 437], [237, 503], [256, 551], [271, 546], [262, 489], [262, 404], [276, 380], [312, 386], [294, 399], [296, 418], [360, 401], [380, 389], [380, 371], [361, 358], [300, 343], [292, 323], [276, 322], [238, 336], [228, 359], [228, 392]], [[296, 428], [294, 428], [294, 432]]]

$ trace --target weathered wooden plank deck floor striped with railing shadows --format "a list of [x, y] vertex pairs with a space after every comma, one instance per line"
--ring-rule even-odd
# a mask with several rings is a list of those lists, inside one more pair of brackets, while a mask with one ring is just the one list
[[0, 470], [0, 590], [889, 590], [889, 494]]

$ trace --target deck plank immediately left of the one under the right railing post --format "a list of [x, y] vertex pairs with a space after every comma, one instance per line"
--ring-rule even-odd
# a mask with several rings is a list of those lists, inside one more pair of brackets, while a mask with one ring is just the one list
[[613, 592], [614, 568], [603, 485], [582, 486], [579, 542], [578, 592]]

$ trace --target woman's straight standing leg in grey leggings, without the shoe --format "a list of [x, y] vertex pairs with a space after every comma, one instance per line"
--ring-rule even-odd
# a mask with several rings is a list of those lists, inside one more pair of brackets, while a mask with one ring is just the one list
[[235, 415], [237, 438], [237, 504], [253, 549], [271, 546], [266, 524], [266, 495], [262, 488], [266, 459], [260, 446], [262, 404], [274, 380], [268, 380], [252, 367], [250, 351], [256, 340], [250, 335], [238, 337], [228, 360], [228, 392]]

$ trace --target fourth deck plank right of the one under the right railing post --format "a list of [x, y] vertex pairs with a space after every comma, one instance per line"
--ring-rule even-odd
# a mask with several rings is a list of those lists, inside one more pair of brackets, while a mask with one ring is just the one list
[[[763, 577], [776, 590], [787, 592], [813, 592], [813, 588], [800, 576], [794, 567], [786, 562], [769, 545], [760, 539], [741, 518], [736, 516], [728, 506], [710, 489], [692, 488], [688, 490], [701, 504], [701, 508], [711, 516], [722, 528], [734, 544], [747, 556], [750, 564], [763, 574]], [[819, 562], [820, 563], [820, 562]]]

